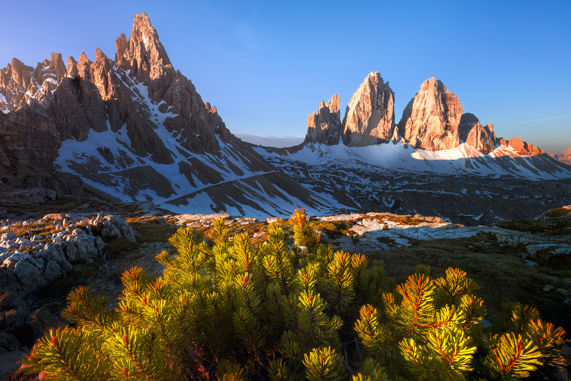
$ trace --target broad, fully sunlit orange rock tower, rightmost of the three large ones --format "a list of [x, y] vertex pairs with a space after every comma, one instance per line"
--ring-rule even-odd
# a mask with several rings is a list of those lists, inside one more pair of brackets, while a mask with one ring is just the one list
[[399, 121], [399, 133], [412, 147], [438, 151], [460, 145], [460, 100], [434, 77], [420, 86]]

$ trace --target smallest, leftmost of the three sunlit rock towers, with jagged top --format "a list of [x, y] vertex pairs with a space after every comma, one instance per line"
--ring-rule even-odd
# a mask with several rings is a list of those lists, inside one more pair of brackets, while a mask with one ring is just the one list
[[307, 135], [304, 143], [339, 144], [341, 136], [341, 111], [339, 94], [331, 97], [327, 103], [323, 100], [319, 110], [307, 116]]

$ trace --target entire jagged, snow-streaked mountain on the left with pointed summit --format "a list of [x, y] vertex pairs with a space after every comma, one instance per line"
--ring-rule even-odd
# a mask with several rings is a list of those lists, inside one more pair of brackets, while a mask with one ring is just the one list
[[115, 45], [114, 60], [96, 48], [95, 62], [82, 53], [66, 67], [53, 53], [35, 69], [14, 59], [0, 70], [5, 187], [89, 189], [170, 210], [260, 216], [337, 205], [228, 131], [172, 67], [147, 14], [136, 15], [128, 40], [120, 34]]

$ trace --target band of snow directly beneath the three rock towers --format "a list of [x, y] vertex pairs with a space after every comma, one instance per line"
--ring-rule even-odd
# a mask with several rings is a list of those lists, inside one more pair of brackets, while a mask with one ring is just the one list
[[571, 177], [571, 168], [546, 156], [520, 156], [511, 147], [497, 145], [485, 154], [468, 144], [453, 149], [425, 151], [403, 143], [347, 147], [343, 143], [308, 143], [298, 149], [264, 149], [260, 155], [280, 167], [280, 160], [309, 165], [343, 166], [366, 170], [371, 165], [392, 171], [433, 172], [445, 175], [512, 176], [528, 180], [554, 180]]

